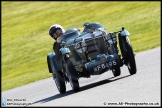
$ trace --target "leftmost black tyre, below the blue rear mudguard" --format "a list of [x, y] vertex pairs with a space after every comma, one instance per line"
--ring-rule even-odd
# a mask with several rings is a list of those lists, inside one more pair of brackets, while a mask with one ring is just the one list
[[53, 80], [55, 81], [55, 84], [57, 86], [58, 91], [62, 94], [66, 92], [66, 86], [65, 86], [65, 79], [63, 77], [63, 73], [61, 71], [56, 71], [54, 69], [52, 60], [50, 59], [50, 65], [52, 70], [52, 76]]

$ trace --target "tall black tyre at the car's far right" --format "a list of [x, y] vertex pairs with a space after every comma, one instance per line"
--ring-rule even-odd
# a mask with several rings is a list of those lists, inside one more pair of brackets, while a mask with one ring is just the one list
[[128, 67], [129, 73], [131, 75], [136, 74], [136, 61], [133, 53], [132, 46], [129, 42], [128, 37], [119, 36], [119, 44], [124, 62]]

